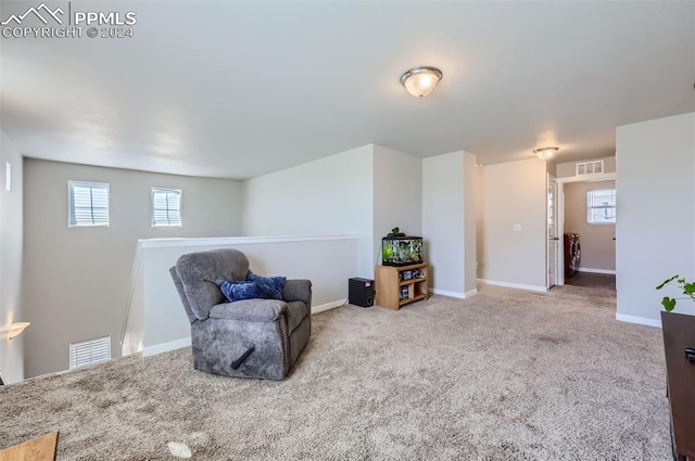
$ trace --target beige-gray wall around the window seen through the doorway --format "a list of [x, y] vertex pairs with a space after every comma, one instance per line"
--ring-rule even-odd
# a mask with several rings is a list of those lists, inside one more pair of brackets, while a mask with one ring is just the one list
[[565, 184], [565, 232], [578, 233], [582, 257], [580, 270], [616, 270], [616, 225], [586, 222], [586, 192], [615, 189], [616, 181], [569, 182]]

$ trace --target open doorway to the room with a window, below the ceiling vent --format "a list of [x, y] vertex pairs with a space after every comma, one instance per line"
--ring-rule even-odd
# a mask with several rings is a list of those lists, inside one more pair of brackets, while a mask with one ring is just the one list
[[617, 289], [615, 197], [615, 172], [557, 179], [557, 285]]

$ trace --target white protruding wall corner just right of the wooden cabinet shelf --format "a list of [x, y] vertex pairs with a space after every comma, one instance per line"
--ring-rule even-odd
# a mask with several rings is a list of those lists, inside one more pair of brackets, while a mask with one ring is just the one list
[[464, 151], [422, 161], [422, 236], [434, 293], [476, 291], [476, 168]]

